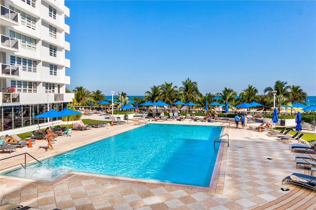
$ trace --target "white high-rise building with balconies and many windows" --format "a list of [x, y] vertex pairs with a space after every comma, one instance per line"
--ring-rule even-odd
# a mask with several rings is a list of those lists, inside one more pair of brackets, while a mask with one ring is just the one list
[[[30, 131], [34, 116], [72, 102], [65, 51], [70, 11], [64, 0], [0, 0], [0, 135]], [[46, 124], [47, 125], [47, 124]], [[16, 132], [19, 133], [19, 132]]]

